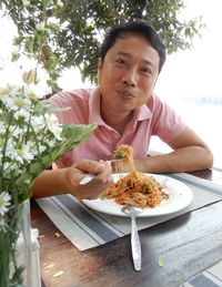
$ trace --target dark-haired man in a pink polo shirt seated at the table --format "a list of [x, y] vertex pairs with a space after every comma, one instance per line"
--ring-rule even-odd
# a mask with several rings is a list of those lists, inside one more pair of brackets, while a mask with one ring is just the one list
[[[164, 61], [165, 47], [145, 22], [135, 21], [110, 30], [98, 63], [99, 86], [51, 98], [56, 105], [71, 107], [58, 114], [60, 122], [97, 123], [98, 129], [87, 142], [58, 161], [60, 170], [50, 171], [46, 178], [44, 174], [40, 176], [41, 183], [48, 181], [49, 193], [57, 189], [51, 184], [56, 181], [54, 173], [69, 172], [72, 164], [82, 158], [105, 160], [120, 144], [132, 145], [134, 165], [141, 172], [169, 173], [212, 167], [213, 156], [206, 144], [153, 94]], [[147, 156], [152, 135], [158, 135], [173, 151]], [[109, 172], [107, 175], [110, 176]], [[64, 188], [67, 184], [63, 182], [60, 191]], [[72, 187], [69, 189], [74, 193]], [[34, 185], [33, 193], [39, 195]]]

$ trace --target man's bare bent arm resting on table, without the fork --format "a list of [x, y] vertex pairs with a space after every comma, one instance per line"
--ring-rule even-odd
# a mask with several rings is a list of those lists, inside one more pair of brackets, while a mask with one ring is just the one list
[[211, 168], [213, 165], [210, 148], [190, 127], [185, 127], [169, 145], [173, 148], [171, 153], [135, 160], [135, 168], [150, 173], [173, 173]]

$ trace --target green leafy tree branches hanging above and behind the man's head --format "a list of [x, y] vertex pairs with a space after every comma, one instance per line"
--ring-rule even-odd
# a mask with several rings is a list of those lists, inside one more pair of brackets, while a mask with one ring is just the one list
[[[29, 3], [30, 2], [30, 3]], [[49, 84], [64, 68], [78, 66], [82, 79], [97, 79], [101, 38], [113, 24], [144, 19], [163, 38], [168, 53], [192, 47], [204, 27], [201, 18], [179, 19], [183, 0], [2, 0], [0, 8], [18, 27], [14, 44], [28, 57], [38, 57], [50, 75]], [[37, 30], [39, 23], [44, 28]], [[37, 37], [38, 34], [38, 37]], [[41, 49], [39, 49], [41, 48]], [[41, 53], [37, 53], [41, 51]], [[19, 53], [13, 55], [18, 59]]]

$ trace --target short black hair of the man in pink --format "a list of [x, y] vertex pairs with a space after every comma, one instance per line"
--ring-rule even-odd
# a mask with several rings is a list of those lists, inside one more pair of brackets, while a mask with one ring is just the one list
[[117, 39], [123, 38], [125, 33], [133, 32], [144, 37], [160, 57], [159, 73], [165, 62], [165, 45], [155, 30], [143, 20], [137, 20], [124, 24], [118, 24], [104, 37], [100, 50], [100, 58], [103, 61], [107, 52], [115, 43]]

